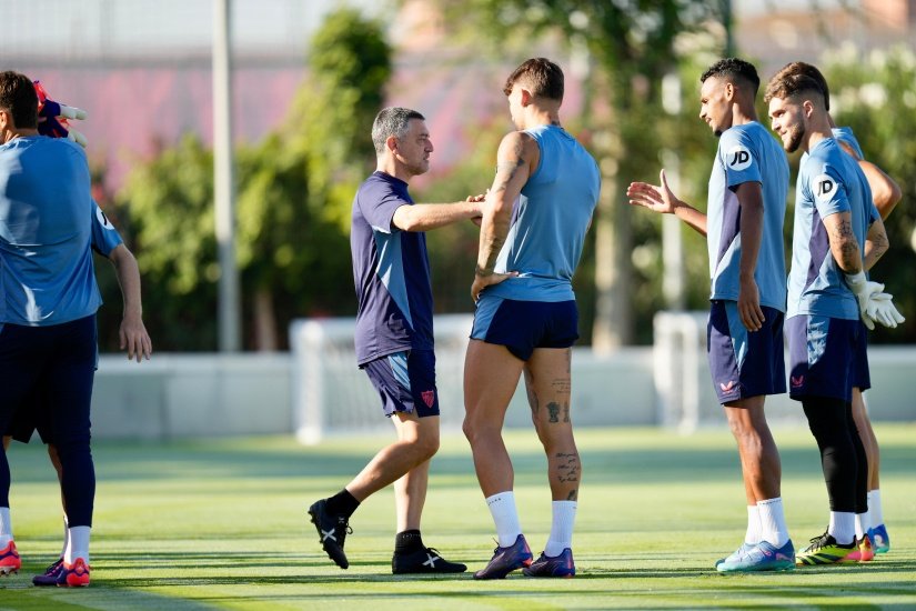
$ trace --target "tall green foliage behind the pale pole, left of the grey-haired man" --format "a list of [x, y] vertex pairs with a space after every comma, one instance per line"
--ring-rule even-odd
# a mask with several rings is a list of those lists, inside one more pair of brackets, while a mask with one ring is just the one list
[[[285, 344], [291, 319], [352, 314], [350, 206], [374, 161], [370, 126], [391, 73], [381, 27], [353, 10], [315, 34], [286, 121], [236, 156], [236, 258], [245, 347]], [[158, 350], [215, 348], [219, 267], [212, 152], [195, 137], [140, 163], [119, 197], [132, 226]], [[252, 324], [254, 320], [261, 324]], [[249, 331], [255, 329], [255, 332]]]

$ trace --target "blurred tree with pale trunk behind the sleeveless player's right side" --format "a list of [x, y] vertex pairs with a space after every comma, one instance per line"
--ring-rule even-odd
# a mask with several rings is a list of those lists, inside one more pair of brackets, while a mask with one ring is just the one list
[[[501, 42], [560, 33], [591, 68], [587, 98], [592, 149], [602, 197], [595, 220], [596, 286], [592, 334], [597, 350], [633, 340], [632, 211], [618, 177], [657, 164], [662, 77], [676, 66], [681, 34], [707, 31], [723, 4], [703, 0], [441, 0], [446, 21], [486, 31]], [[584, 52], [587, 51], [587, 54]]]

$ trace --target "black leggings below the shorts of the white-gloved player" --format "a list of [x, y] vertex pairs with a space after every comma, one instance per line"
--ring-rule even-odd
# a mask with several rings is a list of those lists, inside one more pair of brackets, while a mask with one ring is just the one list
[[831, 511], [865, 513], [868, 459], [853, 420], [853, 404], [829, 397], [806, 397], [802, 405], [821, 450]]

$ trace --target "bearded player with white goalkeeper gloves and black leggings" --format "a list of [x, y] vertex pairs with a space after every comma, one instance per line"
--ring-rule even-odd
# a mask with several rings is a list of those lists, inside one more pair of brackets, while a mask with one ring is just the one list
[[850, 399], [854, 385], [869, 385], [863, 322], [899, 317], [864, 273], [863, 261], [886, 251], [887, 236], [865, 174], [833, 138], [817, 81], [777, 73], [765, 101], [785, 149], [808, 153], [798, 171], [788, 279], [789, 395], [802, 401], [821, 450], [831, 518], [797, 563], [866, 560], [855, 518], [867, 507], [867, 465]]

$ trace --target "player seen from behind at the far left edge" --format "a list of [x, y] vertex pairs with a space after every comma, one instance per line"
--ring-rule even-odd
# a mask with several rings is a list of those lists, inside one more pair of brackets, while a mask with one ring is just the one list
[[[60, 459], [69, 544], [58, 584], [89, 584], [95, 493], [89, 408], [95, 369], [89, 166], [66, 139], [39, 136], [31, 80], [0, 73], [0, 431], [42, 389]], [[0, 571], [14, 553], [10, 471], [0, 454]]]

